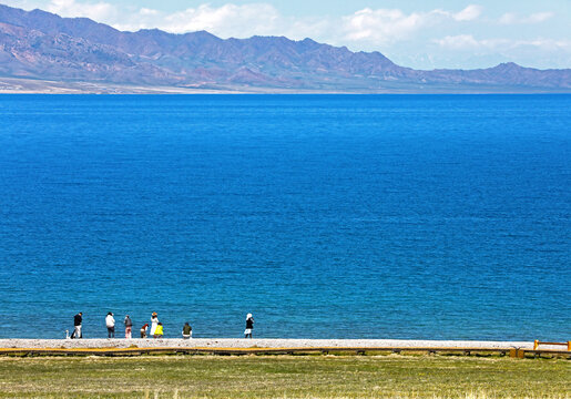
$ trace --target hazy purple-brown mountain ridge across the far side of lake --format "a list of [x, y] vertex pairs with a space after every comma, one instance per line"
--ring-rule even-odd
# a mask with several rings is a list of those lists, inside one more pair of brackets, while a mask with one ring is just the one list
[[122, 32], [86, 18], [0, 4], [0, 76], [180, 88], [348, 92], [569, 91], [571, 70], [514, 63], [418, 71], [379, 52], [283, 37], [220, 39], [208, 32]]

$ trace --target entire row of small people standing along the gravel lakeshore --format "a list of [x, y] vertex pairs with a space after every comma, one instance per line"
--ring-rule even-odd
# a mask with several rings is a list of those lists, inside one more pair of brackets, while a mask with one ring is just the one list
[[[71, 339], [74, 338], [83, 338], [81, 326], [83, 323], [83, 313], [79, 313], [73, 316], [73, 332], [71, 335]], [[105, 316], [105, 326], [108, 328], [108, 338], [115, 338], [115, 318], [113, 313], [108, 313]], [[125, 326], [125, 339], [131, 339], [133, 337], [133, 320], [129, 315], [125, 316], [123, 324]], [[244, 338], [252, 338], [252, 330], [254, 329], [254, 317], [252, 314], [247, 314], [246, 316], [246, 329], [244, 330]], [[151, 330], [149, 331], [149, 324], [145, 324], [141, 327], [141, 338], [146, 338], [149, 336], [153, 338], [162, 338], [164, 336], [163, 324], [159, 321], [159, 315], [156, 311], [153, 311], [151, 315]], [[192, 327], [186, 321], [182, 329], [183, 339], [192, 338]]]

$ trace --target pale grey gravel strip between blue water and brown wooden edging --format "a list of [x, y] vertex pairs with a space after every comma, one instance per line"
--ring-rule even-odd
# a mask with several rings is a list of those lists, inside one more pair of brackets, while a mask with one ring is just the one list
[[[533, 342], [479, 340], [405, 340], [405, 339], [0, 339], [0, 348], [523, 348]], [[542, 346], [544, 349], [564, 347]]]

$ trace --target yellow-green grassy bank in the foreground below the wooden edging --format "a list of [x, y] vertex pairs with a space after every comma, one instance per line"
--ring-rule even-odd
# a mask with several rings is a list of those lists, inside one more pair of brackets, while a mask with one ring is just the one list
[[571, 398], [571, 361], [429, 356], [0, 357], [0, 397]]

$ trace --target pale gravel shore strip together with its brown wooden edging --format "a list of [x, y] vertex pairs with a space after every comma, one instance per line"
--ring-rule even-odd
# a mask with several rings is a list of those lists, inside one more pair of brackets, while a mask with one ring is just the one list
[[303, 355], [380, 352], [499, 354], [563, 356], [571, 350], [527, 341], [401, 340], [401, 339], [0, 339], [0, 355], [140, 356], [140, 355]]

